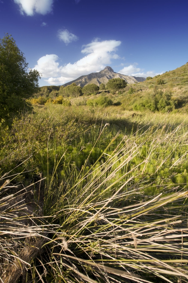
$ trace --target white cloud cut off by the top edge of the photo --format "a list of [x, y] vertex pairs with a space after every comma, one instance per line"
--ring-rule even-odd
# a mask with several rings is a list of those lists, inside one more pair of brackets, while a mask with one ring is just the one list
[[33, 16], [34, 12], [45, 15], [52, 11], [53, 0], [14, 0], [20, 7], [20, 12]]

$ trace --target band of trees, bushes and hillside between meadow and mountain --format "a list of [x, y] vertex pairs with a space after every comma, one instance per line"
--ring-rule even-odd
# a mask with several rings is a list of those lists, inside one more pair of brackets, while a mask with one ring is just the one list
[[[114, 83], [118, 80], [119, 86], [117, 82]], [[111, 82], [113, 82], [113, 86], [110, 85]], [[87, 84], [81, 88], [75, 83], [60, 88], [56, 86], [41, 87], [39, 93], [35, 94], [35, 98], [39, 100], [32, 102], [44, 104], [48, 98], [53, 100], [58, 95], [67, 97], [73, 105], [77, 104], [76, 101], [80, 101], [80, 103], [83, 101], [82, 105], [84, 105], [88, 99], [91, 101], [91, 99], [107, 96], [112, 100], [113, 105], [121, 104], [126, 110], [145, 111], [149, 109], [153, 112], [186, 112], [188, 109], [188, 64], [153, 78], [148, 77], [146, 81], [136, 84], [127, 84], [123, 79], [115, 78], [110, 79], [106, 86], [102, 83], [100, 87], [95, 84]], [[91, 97], [87, 97], [88, 95]], [[40, 96], [44, 98], [43, 103], [41, 103]], [[86, 97], [77, 99], [78, 96]]]

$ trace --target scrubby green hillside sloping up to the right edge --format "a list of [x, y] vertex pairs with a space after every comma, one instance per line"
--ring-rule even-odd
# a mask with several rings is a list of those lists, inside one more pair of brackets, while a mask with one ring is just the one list
[[[119, 96], [119, 100], [125, 109], [144, 110], [148, 108], [145, 105], [151, 104], [155, 95], [160, 95], [160, 98], [170, 95], [169, 101], [174, 105], [172, 109], [182, 108], [182, 110], [187, 112], [188, 63], [162, 75], [157, 75], [153, 78], [148, 77], [144, 82], [129, 84]], [[138, 108], [135, 107], [136, 104], [139, 104]], [[151, 108], [148, 109], [151, 110]]]

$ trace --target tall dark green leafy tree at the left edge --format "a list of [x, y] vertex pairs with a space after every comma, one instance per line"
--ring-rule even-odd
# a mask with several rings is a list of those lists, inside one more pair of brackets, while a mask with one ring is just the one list
[[0, 120], [8, 120], [19, 110], [31, 109], [26, 101], [38, 91], [40, 74], [28, 63], [11, 35], [0, 39]]

